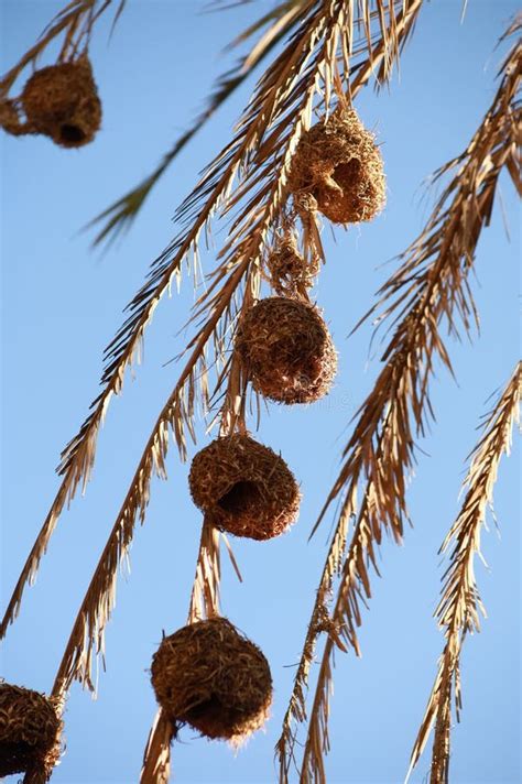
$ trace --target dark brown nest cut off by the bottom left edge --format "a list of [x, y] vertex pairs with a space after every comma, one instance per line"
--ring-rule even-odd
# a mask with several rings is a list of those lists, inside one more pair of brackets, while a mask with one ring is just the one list
[[52, 699], [0, 683], [0, 777], [35, 769], [51, 774], [61, 754], [61, 730]]

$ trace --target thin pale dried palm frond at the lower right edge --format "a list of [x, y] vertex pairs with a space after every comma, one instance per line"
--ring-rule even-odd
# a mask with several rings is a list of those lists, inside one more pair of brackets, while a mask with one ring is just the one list
[[449, 781], [449, 744], [452, 703], [460, 720], [460, 652], [468, 633], [480, 631], [479, 614], [486, 616], [474, 573], [475, 556], [480, 555], [480, 532], [487, 508], [492, 504], [493, 487], [503, 454], [509, 455], [513, 425], [520, 422], [522, 363], [514, 372], [493, 410], [487, 415], [483, 434], [471, 453], [471, 461], [463, 488], [467, 488], [460, 512], [448, 532], [439, 554], [449, 555], [444, 574], [442, 599], [435, 611], [446, 644], [429, 695], [424, 718], [412, 751], [406, 781], [418, 762], [432, 728], [433, 741], [431, 784]]

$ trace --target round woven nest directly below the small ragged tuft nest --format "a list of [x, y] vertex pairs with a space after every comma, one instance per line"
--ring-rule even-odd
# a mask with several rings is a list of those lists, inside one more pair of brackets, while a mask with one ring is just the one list
[[268, 297], [244, 316], [236, 348], [253, 388], [281, 403], [313, 403], [330, 389], [337, 352], [317, 308]]

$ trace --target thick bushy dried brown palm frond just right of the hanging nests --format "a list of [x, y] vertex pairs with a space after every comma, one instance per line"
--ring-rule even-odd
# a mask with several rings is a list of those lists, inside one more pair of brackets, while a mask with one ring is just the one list
[[[518, 87], [521, 65], [522, 45], [518, 42], [502, 65], [500, 87], [468, 148], [436, 173], [439, 177], [449, 168], [456, 170], [452, 182], [420, 237], [404, 252], [400, 269], [380, 291], [380, 303], [371, 311], [384, 303], [380, 318], [392, 318], [394, 331], [384, 350], [385, 364], [359, 409], [354, 433], [344, 450], [345, 462], [319, 516], [320, 521], [334, 499], [342, 493], [340, 518], [276, 747], [281, 782], [289, 781], [297, 726], [306, 720], [308, 673], [322, 632], [327, 639], [309, 714], [301, 781], [303, 784], [326, 781], [324, 754], [329, 748], [327, 720], [333, 652], [337, 646], [359, 653], [360, 602], [371, 596], [369, 569], [373, 567], [378, 573], [376, 549], [384, 531], [396, 542], [402, 541], [414, 438], [424, 434], [427, 420], [433, 416], [429, 381], [435, 361], [453, 372], [441, 336], [442, 326], [445, 324], [448, 333], [457, 336], [459, 319], [466, 333], [470, 331], [477, 314], [468, 276], [480, 232], [490, 221], [499, 176], [504, 167], [515, 186], [520, 186]], [[358, 492], [362, 497], [359, 509]], [[356, 524], [347, 549], [351, 518]], [[339, 584], [329, 612], [336, 575], [339, 575]]]

